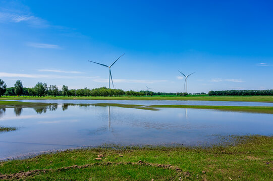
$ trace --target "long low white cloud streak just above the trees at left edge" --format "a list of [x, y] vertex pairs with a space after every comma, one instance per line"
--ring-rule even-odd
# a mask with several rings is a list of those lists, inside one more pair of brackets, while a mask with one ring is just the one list
[[23, 78], [99, 78], [98, 76], [60, 76], [45, 74], [23, 74], [0, 72], [0, 77], [23, 77]]

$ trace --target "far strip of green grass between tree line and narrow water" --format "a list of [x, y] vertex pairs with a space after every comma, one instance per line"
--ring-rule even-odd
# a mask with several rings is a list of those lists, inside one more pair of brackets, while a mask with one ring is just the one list
[[173, 101], [242, 101], [242, 102], [265, 102], [273, 103], [273, 96], [207, 96], [207, 95], [189, 95], [189, 96], [143, 96], [143, 97], [1, 97], [0, 100], [173, 100]]

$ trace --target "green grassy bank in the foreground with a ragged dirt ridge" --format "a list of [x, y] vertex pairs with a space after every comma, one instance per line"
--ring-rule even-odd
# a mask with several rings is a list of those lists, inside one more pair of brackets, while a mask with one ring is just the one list
[[272, 180], [273, 137], [211, 148], [79, 149], [4, 161], [0, 172], [24, 180]]

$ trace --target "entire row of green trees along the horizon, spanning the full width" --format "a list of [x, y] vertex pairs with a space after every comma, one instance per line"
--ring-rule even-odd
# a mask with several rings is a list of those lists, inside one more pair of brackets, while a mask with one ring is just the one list
[[[121, 96], [156, 96], [156, 95], [176, 95], [187, 96], [191, 93], [160, 93], [152, 91], [123, 91], [122, 89], [111, 89], [100, 87], [89, 89], [87, 87], [81, 89], [69, 89], [67, 85], [63, 85], [61, 89], [57, 85], [47, 85], [43, 82], [38, 82], [32, 88], [23, 86], [21, 80], [17, 80], [13, 87], [7, 87], [4, 80], [0, 79], [0, 97], [1, 96], [32, 96], [32, 97], [121, 97]], [[193, 95], [205, 95], [205, 93], [195, 93]], [[230, 90], [230, 91], [209, 91], [208, 96], [273, 96], [273, 89], [270, 90]]]

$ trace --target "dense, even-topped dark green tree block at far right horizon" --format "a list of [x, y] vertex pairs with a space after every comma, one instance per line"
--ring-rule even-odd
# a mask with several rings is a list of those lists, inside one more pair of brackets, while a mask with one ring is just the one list
[[273, 96], [273, 90], [210, 91], [208, 96]]

